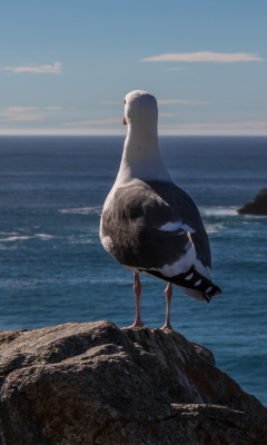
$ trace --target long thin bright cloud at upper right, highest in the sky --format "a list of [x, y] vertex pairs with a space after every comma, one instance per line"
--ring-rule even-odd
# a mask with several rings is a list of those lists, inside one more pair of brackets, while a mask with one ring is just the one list
[[234, 62], [251, 62], [264, 60], [257, 53], [250, 52], [178, 52], [165, 53], [155, 57], [141, 59], [141, 62], [218, 62], [218, 63], [234, 63]]

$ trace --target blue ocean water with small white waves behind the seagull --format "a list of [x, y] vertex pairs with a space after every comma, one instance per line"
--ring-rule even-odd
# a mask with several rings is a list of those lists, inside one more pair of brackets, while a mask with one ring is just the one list
[[[210, 348], [217, 366], [267, 405], [267, 217], [236, 209], [267, 187], [267, 138], [160, 140], [177, 184], [200, 208], [222, 295], [178, 288], [172, 327]], [[103, 250], [101, 206], [123, 138], [0, 138], [0, 328], [135, 318], [132, 274]], [[141, 315], [165, 322], [165, 284], [141, 276]]]

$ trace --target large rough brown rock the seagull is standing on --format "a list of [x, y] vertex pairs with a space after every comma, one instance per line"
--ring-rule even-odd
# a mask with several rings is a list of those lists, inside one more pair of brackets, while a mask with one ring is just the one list
[[0, 332], [1, 445], [267, 444], [267, 409], [181, 334]]

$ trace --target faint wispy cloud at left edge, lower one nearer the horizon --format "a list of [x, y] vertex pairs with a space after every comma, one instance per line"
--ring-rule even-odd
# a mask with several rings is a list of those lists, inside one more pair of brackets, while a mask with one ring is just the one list
[[[4, 117], [2, 122], [30, 122], [37, 120], [44, 120], [48, 116], [48, 111], [52, 110], [61, 110], [61, 107], [6, 107], [0, 112], [0, 116]], [[32, 112], [32, 111], [42, 111], [42, 112]], [[30, 112], [29, 112], [30, 111]], [[43, 112], [44, 111], [44, 112]]]

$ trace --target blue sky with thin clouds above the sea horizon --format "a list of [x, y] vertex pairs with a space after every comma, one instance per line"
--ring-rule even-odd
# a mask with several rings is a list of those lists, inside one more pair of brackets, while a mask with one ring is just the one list
[[267, 136], [266, 0], [2, 0], [0, 135], [125, 135], [123, 99], [160, 135]]

